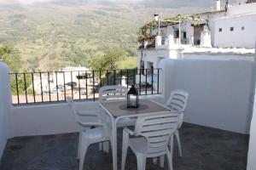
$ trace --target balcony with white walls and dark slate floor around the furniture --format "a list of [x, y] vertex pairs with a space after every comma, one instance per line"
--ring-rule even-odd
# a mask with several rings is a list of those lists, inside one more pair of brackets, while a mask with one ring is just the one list
[[[147, 87], [147, 95], [141, 98], [162, 103], [173, 89], [184, 89], [191, 96], [180, 132], [183, 157], [174, 151], [174, 170], [252, 167], [254, 60], [162, 59], [159, 67], [159, 88], [155, 88], [159, 93], [152, 95]], [[33, 105], [26, 105], [25, 97], [25, 105], [17, 105], [13, 102], [17, 96], [11, 94], [8, 66], [1, 63], [0, 72], [0, 169], [77, 169], [78, 127], [67, 104], [34, 104], [32, 97]], [[96, 98], [74, 98], [80, 109], [98, 109]], [[121, 135], [120, 130], [118, 159]], [[97, 145], [90, 147], [86, 158], [84, 169], [112, 169], [111, 154], [98, 151]], [[126, 169], [136, 168], [137, 161], [130, 151]], [[146, 169], [161, 168], [148, 159]]]

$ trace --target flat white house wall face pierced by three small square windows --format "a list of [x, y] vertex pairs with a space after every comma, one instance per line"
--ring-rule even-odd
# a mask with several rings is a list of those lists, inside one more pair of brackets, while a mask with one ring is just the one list
[[[234, 31], [230, 31], [234, 27]], [[241, 29], [244, 27], [244, 30]], [[222, 28], [222, 31], [218, 31]], [[214, 47], [254, 48], [256, 38], [256, 9], [251, 15], [224, 17], [215, 20]]]

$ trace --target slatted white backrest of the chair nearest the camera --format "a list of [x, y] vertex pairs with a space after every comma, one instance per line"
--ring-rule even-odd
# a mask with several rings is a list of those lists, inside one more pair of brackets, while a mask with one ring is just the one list
[[150, 116], [139, 116], [135, 133], [148, 140], [148, 156], [166, 153], [170, 136], [177, 130], [178, 113], [166, 111]]

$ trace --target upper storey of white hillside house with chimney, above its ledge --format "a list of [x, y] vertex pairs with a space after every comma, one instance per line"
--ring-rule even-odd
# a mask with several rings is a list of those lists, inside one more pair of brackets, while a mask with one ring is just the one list
[[172, 36], [174, 44], [180, 38], [182, 44], [207, 48], [254, 48], [256, 3], [226, 4], [222, 9], [217, 0], [215, 10], [193, 15], [198, 19], [190, 19], [181, 26], [177, 21], [160, 21], [161, 41], [166, 43]]

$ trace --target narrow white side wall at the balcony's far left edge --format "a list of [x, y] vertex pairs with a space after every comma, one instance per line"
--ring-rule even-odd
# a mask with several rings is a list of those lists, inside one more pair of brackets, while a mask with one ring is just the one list
[[9, 87], [9, 67], [0, 62], [0, 159], [10, 133], [9, 113], [11, 98]]

